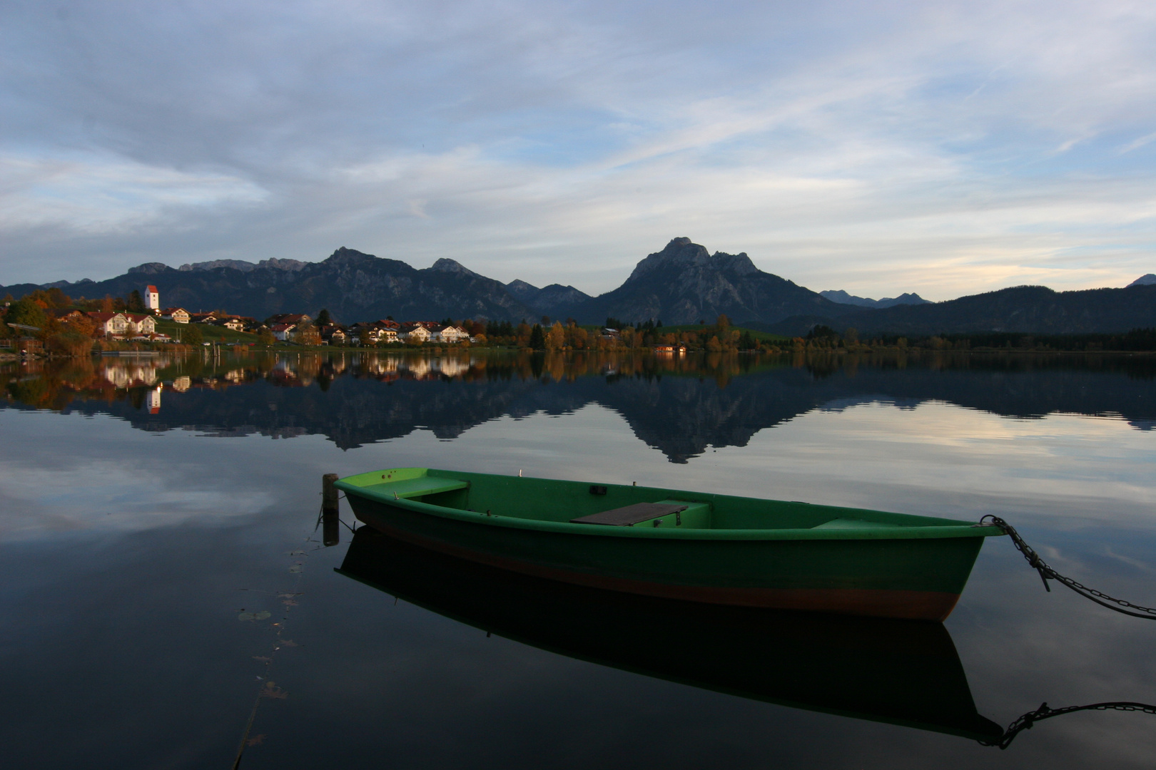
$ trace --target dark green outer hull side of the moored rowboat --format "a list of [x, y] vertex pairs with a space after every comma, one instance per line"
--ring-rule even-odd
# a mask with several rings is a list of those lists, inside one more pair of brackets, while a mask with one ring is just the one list
[[720, 605], [941, 621], [955, 607], [983, 545], [978, 534], [608, 537], [606, 530], [624, 528], [503, 526], [497, 517], [442, 516], [428, 510], [432, 506], [343, 488], [358, 519], [424, 548], [577, 585]]

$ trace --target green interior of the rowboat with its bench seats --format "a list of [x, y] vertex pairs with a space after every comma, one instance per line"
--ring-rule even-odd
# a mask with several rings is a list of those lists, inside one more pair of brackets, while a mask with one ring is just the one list
[[343, 481], [386, 502], [415, 500], [489, 516], [588, 526], [864, 530], [970, 525], [970, 522], [938, 517], [799, 501], [424, 468], [372, 471]]

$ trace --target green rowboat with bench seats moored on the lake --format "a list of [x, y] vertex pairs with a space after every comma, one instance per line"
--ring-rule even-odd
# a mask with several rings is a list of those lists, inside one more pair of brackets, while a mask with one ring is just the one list
[[657, 487], [395, 468], [343, 478], [400, 540], [592, 588], [941, 621], [995, 526]]

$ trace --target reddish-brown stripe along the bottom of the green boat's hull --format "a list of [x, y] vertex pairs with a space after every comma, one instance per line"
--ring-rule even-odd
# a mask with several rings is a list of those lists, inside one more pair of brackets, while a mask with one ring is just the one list
[[664, 599], [682, 599], [704, 604], [725, 604], [766, 610], [800, 610], [806, 612], [830, 612], [844, 615], [867, 615], [872, 618], [901, 618], [904, 620], [943, 621], [956, 601], [958, 593], [943, 591], [901, 591], [885, 589], [768, 589], [716, 585], [680, 585], [655, 583], [629, 577], [613, 577], [581, 573], [546, 565], [496, 556], [442, 543], [430, 538], [373, 522], [375, 529], [390, 537], [431, 551], [445, 553], [490, 567], [509, 569], [524, 575], [544, 577], [563, 583], [575, 583], [590, 588]]

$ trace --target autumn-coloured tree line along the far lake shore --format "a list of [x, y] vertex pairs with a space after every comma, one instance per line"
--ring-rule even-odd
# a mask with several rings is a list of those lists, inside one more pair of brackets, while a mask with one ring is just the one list
[[[127, 317], [153, 319], [155, 329], [149, 336], [128, 337], [112, 335], [99, 326], [109, 314]], [[213, 317], [214, 314], [201, 314]], [[0, 354], [7, 356], [89, 356], [104, 351], [169, 350], [190, 351], [205, 345], [245, 346], [260, 349], [512, 349], [532, 351], [653, 351], [682, 354], [694, 352], [762, 352], [784, 353], [800, 351], [867, 352], [894, 350], [935, 351], [1039, 351], [1039, 352], [1153, 352], [1156, 351], [1156, 329], [1132, 329], [1120, 334], [1027, 334], [977, 331], [963, 334], [904, 337], [875, 334], [861, 337], [853, 328], [836, 330], [816, 326], [807, 335], [784, 337], [765, 331], [732, 324], [726, 315], [712, 323], [664, 326], [661, 320], [624, 323], [608, 317], [601, 327], [581, 326], [573, 319], [551, 320], [548, 316], [529, 322], [444, 319], [440, 323], [409, 322], [399, 324], [393, 319], [341, 324], [321, 311], [318, 317], [305, 314], [294, 317], [296, 324], [253, 322], [247, 328], [222, 326], [221, 319], [232, 319], [225, 313], [215, 314], [216, 323], [178, 323], [149, 314], [139, 292], [127, 298], [73, 299], [60, 289], [38, 289], [18, 300], [6, 297], [0, 302]], [[292, 327], [291, 330], [280, 327]], [[403, 334], [375, 334], [375, 329], [398, 329]], [[429, 334], [413, 334], [422, 327], [455, 329], [460, 334], [442, 342]], [[405, 329], [409, 328], [409, 332]], [[360, 336], [358, 336], [360, 335]]]

